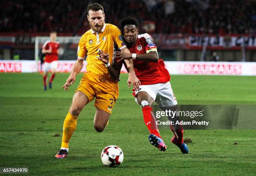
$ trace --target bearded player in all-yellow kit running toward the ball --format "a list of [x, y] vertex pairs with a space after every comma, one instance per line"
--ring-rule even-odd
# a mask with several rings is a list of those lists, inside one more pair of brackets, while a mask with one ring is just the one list
[[[115, 101], [118, 98], [117, 80], [111, 78], [108, 73], [108, 69], [112, 68], [114, 43], [123, 52], [130, 53], [124, 43], [121, 31], [115, 25], [105, 23], [104, 10], [100, 4], [93, 3], [88, 5], [87, 14], [91, 29], [84, 33], [79, 41], [77, 62], [74, 63], [72, 72], [62, 88], [67, 91], [68, 87], [74, 83], [75, 76], [82, 70], [83, 60], [86, 55], [87, 72], [84, 73], [75, 91], [69, 113], [64, 120], [61, 150], [55, 155], [56, 158], [67, 157], [69, 140], [76, 130], [77, 117], [84, 106], [94, 98], [96, 99], [94, 103], [96, 107], [94, 128], [98, 132], [102, 132], [105, 129]], [[110, 54], [110, 62], [108, 64], [105, 65], [99, 60], [100, 51]], [[130, 83], [132, 83], [133, 87], [138, 90], [140, 81], [134, 73], [133, 62], [132, 60], [127, 60], [125, 63], [129, 72], [128, 86], [130, 87]]]

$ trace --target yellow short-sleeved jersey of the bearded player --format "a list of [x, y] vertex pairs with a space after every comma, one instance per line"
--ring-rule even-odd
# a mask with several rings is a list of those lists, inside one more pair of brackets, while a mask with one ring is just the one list
[[98, 59], [99, 50], [109, 54], [109, 62], [113, 63], [114, 43], [119, 49], [126, 47], [121, 31], [115, 25], [105, 23], [101, 32], [96, 33], [92, 29], [82, 35], [77, 49], [79, 59], [84, 59], [87, 55], [87, 72], [92, 72], [101, 76], [110, 76], [108, 68]]

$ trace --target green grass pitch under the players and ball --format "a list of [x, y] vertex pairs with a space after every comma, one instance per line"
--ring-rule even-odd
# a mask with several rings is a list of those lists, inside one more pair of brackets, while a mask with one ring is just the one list
[[[256, 130], [187, 130], [189, 154], [170, 142], [167, 150], [148, 142], [141, 108], [131, 96], [126, 74], [109, 125], [93, 128], [95, 107], [87, 105], [78, 118], [67, 158], [54, 155], [60, 148], [62, 125], [82, 74], [69, 91], [61, 89], [69, 74], [57, 74], [53, 89], [43, 91], [39, 73], [0, 73], [0, 167], [28, 167], [35, 175], [255, 175]], [[173, 75], [179, 104], [256, 105], [256, 77]], [[59, 136], [58, 136], [59, 134]], [[237, 143], [237, 145], [234, 145]], [[117, 145], [124, 153], [118, 168], [105, 167], [100, 153]]]

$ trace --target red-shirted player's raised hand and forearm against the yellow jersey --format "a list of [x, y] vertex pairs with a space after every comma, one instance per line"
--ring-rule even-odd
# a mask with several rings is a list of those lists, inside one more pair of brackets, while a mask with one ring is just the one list
[[99, 60], [101, 60], [106, 65], [106, 67], [108, 68], [108, 73], [110, 74], [111, 78], [119, 81], [122, 62], [114, 63], [113, 65], [111, 65], [109, 63], [109, 54], [106, 54], [103, 51], [100, 51], [99, 55], [100, 55]]

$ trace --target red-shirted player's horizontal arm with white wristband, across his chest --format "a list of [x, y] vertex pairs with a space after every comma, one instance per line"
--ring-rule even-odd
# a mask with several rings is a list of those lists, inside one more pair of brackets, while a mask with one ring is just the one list
[[158, 54], [156, 51], [151, 51], [145, 54], [132, 54], [132, 53], [125, 53], [125, 52], [115, 52], [115, 59], [120, 60], [127, 60], [127, 59], [136, 59], [136, 60], [143, 60], [148, 62], [158, 62]]

